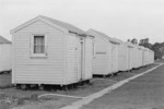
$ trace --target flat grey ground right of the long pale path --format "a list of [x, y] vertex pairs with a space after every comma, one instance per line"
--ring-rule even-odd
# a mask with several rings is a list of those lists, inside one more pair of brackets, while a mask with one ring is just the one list
[[83, 106], [82, 109], [164, 109], [164, 65]]

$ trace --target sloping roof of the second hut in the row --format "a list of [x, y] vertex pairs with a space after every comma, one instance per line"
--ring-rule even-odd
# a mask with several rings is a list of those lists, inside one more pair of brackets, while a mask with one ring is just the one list
[[99, 36], [103, 36], [103, 37], [105, 37], [107, 40], [109, 40], [109, 41], [112, 41], [112, 43], [117, 43], [117, 41], [115, 41], [113, 38], [110, 38], [109, 36], [107, 36], [106, 34], [104, 34], [104, 33], [101, 33], [101, 32], [98, 32], [98, 31], [95, 31], [95, 29], [89, 29], [87, 31], [87, 34], [89, 35], [92, 35], [90, 32], [94, 32], [94, 33], [96, 33], [96, 34], [98, 34]]

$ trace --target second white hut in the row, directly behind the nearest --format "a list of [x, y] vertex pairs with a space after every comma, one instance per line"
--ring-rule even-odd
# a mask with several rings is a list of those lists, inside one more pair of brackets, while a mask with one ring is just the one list
[[94, 36], [94, 60], [93, 60], [93, 74], [94, 75], [108, 75], [117, 72], [118, 69], [118, 45], [107, 35], [89, 29], [87, 34]]

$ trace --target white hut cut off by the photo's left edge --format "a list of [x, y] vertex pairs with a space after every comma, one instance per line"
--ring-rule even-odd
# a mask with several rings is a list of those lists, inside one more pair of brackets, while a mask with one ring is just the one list
[[0, 36], [0, 72], [11, 71], [11, 41]]

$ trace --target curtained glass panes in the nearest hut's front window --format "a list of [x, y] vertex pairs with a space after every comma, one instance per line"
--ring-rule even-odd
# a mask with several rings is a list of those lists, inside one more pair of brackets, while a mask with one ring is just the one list
[[34, 36], [34, 53], [45, 53], [44, 36]]

